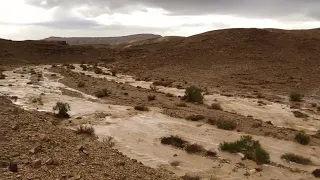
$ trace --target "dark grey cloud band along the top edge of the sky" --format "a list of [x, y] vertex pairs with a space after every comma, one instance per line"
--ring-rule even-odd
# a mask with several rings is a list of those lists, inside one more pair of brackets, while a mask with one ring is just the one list
[[[231, 14], [245, 17], [273, 18], [303, 14], [319, 18], [319, 0], [27, 0], [29, 3], [47, 8], [89, 5], [100, 13], [118, 12], [134, 5], [163, 8], [172, 14]], [[107, 8], [106, 8], [107, 7]], [[126, 9], [127, 10], [127, 9]]]

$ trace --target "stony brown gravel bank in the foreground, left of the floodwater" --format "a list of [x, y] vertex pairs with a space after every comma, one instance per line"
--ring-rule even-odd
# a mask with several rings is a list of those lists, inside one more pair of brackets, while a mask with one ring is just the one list
[[93, 136], [58, 128], [52, 114], [24, 111], [5, 97], [0, 97], [0, 121], [1, 180], [179, 179], [129, 159]]

